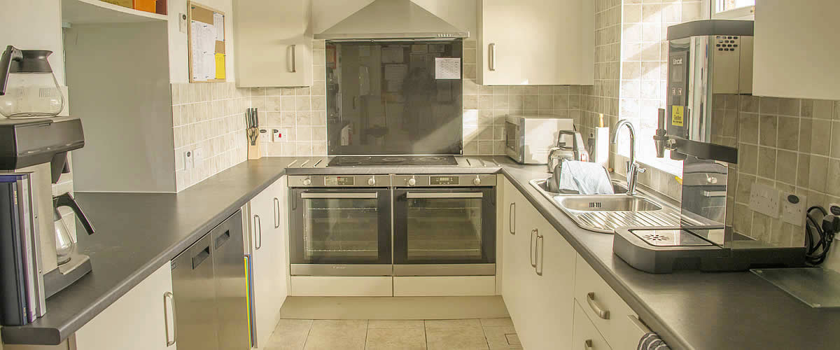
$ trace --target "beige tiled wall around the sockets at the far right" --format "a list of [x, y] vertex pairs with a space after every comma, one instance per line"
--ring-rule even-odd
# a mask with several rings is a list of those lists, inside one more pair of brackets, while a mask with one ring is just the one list
[[737, 185], [729, 191], [735, 231], [801, 246], [805, 228], [753, 212], [750, 189], [758, 182], [807, 196], [809, 207], [840, 202], [840, 102], [753, 96], [727, 101], [738, 101], [739, 163], [730, 174]]

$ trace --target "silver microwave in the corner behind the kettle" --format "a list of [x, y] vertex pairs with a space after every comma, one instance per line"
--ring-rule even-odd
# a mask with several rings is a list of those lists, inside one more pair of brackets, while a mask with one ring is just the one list
[[552, 148], [559, 143], [575, 142], [570, 134], [559, 133], [560, 130], [575, 130], [575, 121], [570, 118], [510, 115], [505, 120], [505, 128], [505, 152], [517, 163], [548, 164]]

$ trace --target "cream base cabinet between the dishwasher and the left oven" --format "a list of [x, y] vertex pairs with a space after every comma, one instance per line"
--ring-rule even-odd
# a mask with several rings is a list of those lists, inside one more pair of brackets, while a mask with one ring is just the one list
[[254, 290], [255, 347], [262, 348], [277, 322], [288, 295], [286, 259], [286, 176], [267, 187], [249, 202], [249, 252]]

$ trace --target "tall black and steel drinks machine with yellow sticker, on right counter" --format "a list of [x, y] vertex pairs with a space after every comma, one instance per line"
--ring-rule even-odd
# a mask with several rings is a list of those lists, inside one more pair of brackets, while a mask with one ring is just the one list
[[714, 107], [752, 89], [753, 21], [703, 20], [668, 28], [667, 108], [659, 110], [657, 156], [683, 160], [678, 227], [616, 230], [613, 252], [637, 269], [669, 273], [799, 267], [804, 242], [768, 243], [727, 226], [729, 164], [738, 163], [738, 120]]

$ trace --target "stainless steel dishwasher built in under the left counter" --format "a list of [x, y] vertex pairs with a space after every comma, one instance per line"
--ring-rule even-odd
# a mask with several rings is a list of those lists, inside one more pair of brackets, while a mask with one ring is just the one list
[[242, 212], [172, 260], [181, 350], [248, 350]]

